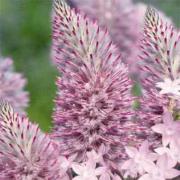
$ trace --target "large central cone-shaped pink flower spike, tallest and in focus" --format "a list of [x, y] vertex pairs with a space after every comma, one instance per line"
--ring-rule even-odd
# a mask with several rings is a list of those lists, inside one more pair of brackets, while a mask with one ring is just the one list
[[53, 46], [62, 77], [54, 112], [54, 138], [61, 153], [86, 152], [105, 145], [106, 159], [124, 158], [124, 146], [140, 144], [151, 130], [131, 120], [133, 98], [128, 70], [106, 30], [55, 1]]

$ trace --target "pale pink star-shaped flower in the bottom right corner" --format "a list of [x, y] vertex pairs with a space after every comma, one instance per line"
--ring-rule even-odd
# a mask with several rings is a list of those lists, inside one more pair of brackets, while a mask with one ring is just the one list
[[174, 163], [168, 160], [166, 155], [158, 158], [156, 164], [146, 162], [144, 168], [147, 173], [144, 174], [139, 180], [166, 180], [173, 179], [180, 175], [180, 171], [173, 168]]

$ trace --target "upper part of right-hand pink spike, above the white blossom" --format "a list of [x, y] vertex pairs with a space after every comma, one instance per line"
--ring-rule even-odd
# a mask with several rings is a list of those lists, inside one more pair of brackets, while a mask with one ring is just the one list
[[165, 16], [149, 7], [145, 17], [142, 41], [144, 55], [141, 61], [141, 70], [148, 74], [151, 83], [149, 87], [165, 79], [172, 81], [179, 79], [179, 43], [178, 30]]

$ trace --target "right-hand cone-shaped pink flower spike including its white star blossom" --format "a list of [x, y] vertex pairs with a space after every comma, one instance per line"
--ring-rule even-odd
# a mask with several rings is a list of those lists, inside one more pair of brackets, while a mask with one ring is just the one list
[[[156, 10], [149, 8], [142, 41], [141, 70], [144, 99], [142, 107], [155, 114], [179, 108], [180, 33]], [[147, 103], [148, 102], [148, 103]]]

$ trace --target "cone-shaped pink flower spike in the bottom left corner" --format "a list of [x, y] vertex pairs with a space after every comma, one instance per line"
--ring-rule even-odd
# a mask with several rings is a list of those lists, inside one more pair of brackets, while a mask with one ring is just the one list
[[0, 179], [60, 178], [57, 145], [7, 103], [0, 107], [0, 130]]

